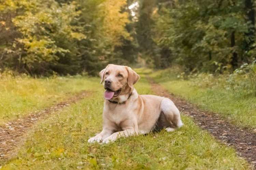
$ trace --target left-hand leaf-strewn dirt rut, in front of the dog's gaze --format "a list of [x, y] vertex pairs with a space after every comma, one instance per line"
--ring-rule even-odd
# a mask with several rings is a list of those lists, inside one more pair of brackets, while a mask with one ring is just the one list
[[81, 91], [64, 102], [48, 107], [42, 111], [33, 112], [21, 119], [0, 125], [0, 161], [9, 159], [17, 153], [17, 148], [23, 143], [27, 131], [29, 131], [36, 122], [45, 119], [47, 115], [54, 114], [70, 104], [85, 98], [89, 94], [90, 92]]

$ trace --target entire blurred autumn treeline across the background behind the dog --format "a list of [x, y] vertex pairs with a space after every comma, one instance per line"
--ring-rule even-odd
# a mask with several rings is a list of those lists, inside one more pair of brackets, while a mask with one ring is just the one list
[[0, 12], [2, 71], [97, 74], [143, 60], [223, 73], [256, 56], [254, 0], [0, 0]]

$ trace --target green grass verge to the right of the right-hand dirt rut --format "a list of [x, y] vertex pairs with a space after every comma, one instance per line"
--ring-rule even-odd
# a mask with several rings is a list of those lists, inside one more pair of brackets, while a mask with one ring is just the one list
[[232, 89], [221, 78], [177, 79], [173, 69], [156, 71], [151, 76], [169, 92], [197, 104], [202, 109], [218, 113], [236, 125], [256, 128], [256, 97], [247, 94], [246, 89]]

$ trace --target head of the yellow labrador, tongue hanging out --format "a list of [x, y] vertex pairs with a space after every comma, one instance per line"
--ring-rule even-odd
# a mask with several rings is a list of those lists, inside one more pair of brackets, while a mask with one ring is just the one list
[[109, 64], [100, 71], [101, 82], [103, 82], [105, 99], [116, 99], [120, 95], [129, 95], [133, 85], [140, 76], [130, 67]]

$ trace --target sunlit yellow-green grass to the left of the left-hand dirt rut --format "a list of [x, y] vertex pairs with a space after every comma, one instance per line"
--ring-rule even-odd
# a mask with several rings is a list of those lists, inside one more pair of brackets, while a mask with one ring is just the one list
[[86, 77], [0, 77], [0, 124], [93, 89]]

